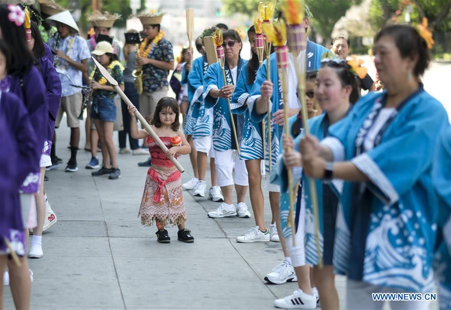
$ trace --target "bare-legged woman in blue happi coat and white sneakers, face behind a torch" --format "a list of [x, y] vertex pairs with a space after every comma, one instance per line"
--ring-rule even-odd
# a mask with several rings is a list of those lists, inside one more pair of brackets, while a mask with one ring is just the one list
[[[270, 232], [265, 225], [263, 214], [264, 198], [262, 191], [262, 174], [260, 170], [263, 158], [263, 141], [261, 123], [254, 123], [249, 117], [249, 109], [246, 104], [249, 92], [254, 85], [255, 76], [259, 68], [259, 57], [255, 48], [255, 28], [248, 30], [248, 38], [251, 43], [251, 59], [243, 66], [238, 77], [237, 86], [232, 97], [232, 109], [234, 114], [244, 115], [243, 139], [240, 146], [240, 158], [245, 160], [249, 176], [249, 193], [251, 195], [252, 210], [254, 211], [255, 227], [249, 232], [237, 238], [238, 242], [265, 242], [270, 241]], [[274, 221], [272, 221], [274, 222]]]

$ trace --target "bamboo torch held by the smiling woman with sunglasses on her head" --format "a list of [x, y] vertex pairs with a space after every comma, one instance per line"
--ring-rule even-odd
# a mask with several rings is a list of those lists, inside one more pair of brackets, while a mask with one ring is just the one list
[[[287, 41], [287, 30], [285, 22], [279, 20], [278, 22], [273, 22], [272, 25], [264, 24], [263, 29], [268, 37], [271, 37], [271, 41], [274, 44], [274, 49], [276, 50], [277, 58], [277, 68], [279, 69], [279, 78], [282, 84], [282, 94], [284, 97], [284, 120], [285, 120], [285, 135], [290, 135], [290, 129], [288, 128], [288, 84], [287, 84], [287, 68], [288, 68], [288, 48], [285, 45]], [[288, 221], [291, 225], [293, 244], [296, 244], [296, 226], [294, 223], [293, 216], [293, 206], [294, 206], [294, 194], [293, 194], [293, 170], [288, 169], [288, 191], [289, 191], [289, 201], [290, 201], [290, 214]]]

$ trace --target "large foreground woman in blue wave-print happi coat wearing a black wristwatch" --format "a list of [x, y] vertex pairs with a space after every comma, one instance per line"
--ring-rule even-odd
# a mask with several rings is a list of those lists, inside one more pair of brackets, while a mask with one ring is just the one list
[[[431, 168], [449, 123], [418, 83], [429, 54], [416, 30], [389, 26], [374, 42], [385, 91], [362, 97], [321, 144], [309, 136], [300, 146], [306, 175], [345, 180], [333, 255], [336, 271], [348, 277], [347, 309], [374, 307], [372, 292], [433, 288], [438, 208]], [[392, 308], [426, 306], [427, 300], [391, 302]]]

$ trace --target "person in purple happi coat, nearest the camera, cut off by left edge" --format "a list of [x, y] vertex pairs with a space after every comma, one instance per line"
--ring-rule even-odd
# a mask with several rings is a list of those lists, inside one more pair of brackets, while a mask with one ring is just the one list
[[[23, 39], [25, 45], [25, 31]], [[36, 132], [22, 99], [9, 92], [9, 86], [5, 85], [9, 80], [6, 75], [11, 69], [11, 60], [7, 42], [0, 40], [0, 145], [3, 147], [0, 151], [0, 308], [3, 306], [3, 285], [8, 285], [11, 278], [16, 308], [27, 309], [31, 295], [26, 258], [28, 229], [25, 230], [28, 210], [25, 218], [21, 216], [19, 188], [39, 164], [42, 146], [35, 145]], [[19, 256], [21, 266], [11, 259], [11, 250]], [[9, 273], [4, 272], [6, 266]]]

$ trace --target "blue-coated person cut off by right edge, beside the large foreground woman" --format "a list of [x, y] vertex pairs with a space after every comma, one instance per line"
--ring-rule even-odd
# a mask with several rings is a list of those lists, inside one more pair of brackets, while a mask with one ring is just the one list
[[451, 126], [443, 132], [432, 168], [432, 183], [438, 195], [437, 237], [434, 273], [440, 310], [451, 309]]

